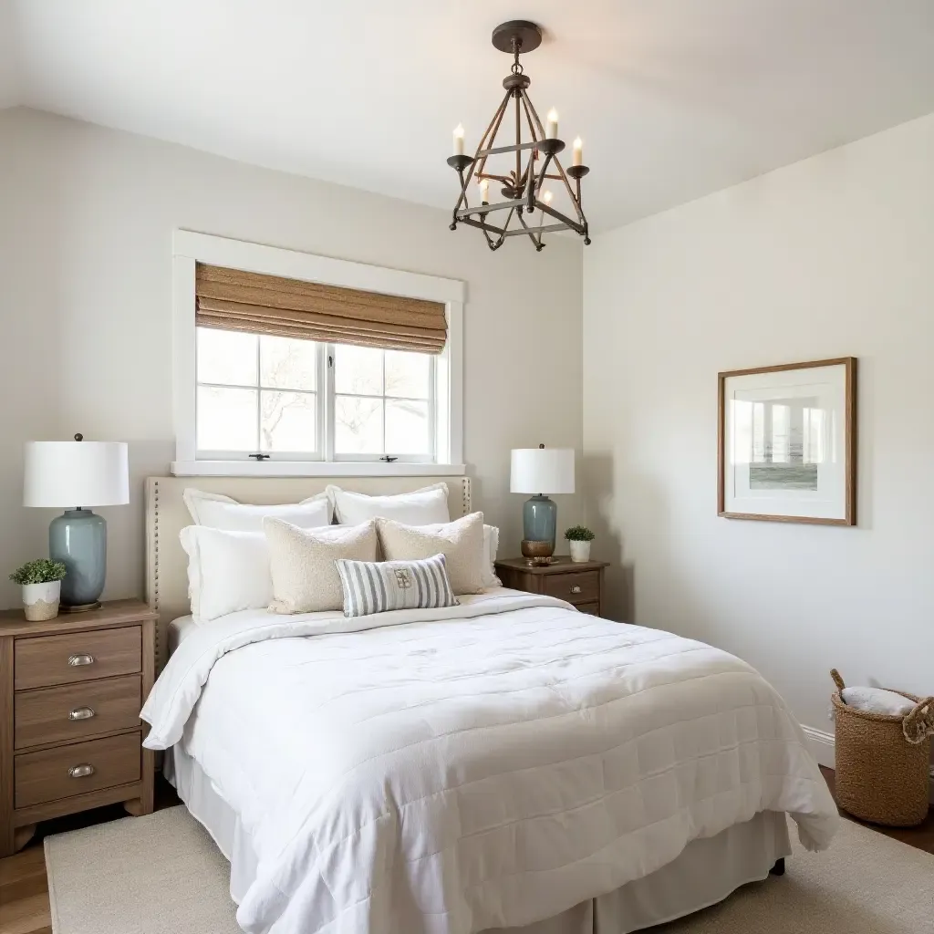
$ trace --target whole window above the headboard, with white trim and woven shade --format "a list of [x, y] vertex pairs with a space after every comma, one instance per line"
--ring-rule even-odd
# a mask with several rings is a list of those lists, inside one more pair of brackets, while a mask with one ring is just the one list
[[184, 231], [174, 247], [173, 473], [463, 474], [460, 282]]

